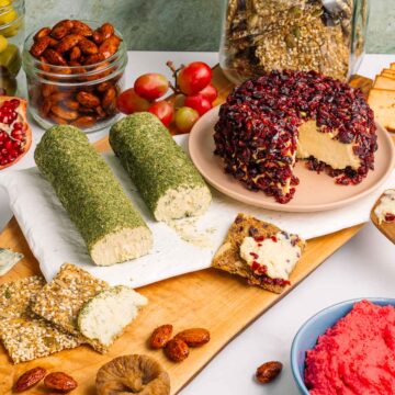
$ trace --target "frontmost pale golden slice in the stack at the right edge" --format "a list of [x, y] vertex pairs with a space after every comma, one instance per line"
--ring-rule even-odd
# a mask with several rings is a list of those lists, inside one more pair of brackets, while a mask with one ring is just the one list
[[368, 102], [374, 111], [376, 122], [387, 131], [395, 132], [395, 91], [371, 89]]

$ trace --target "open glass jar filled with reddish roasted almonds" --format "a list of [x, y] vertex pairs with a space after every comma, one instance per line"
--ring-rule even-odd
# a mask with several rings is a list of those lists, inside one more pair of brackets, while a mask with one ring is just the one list
[[[99, 23], [83, 21], [91, 29]], [[30, 112], [44, 128], [70, 124], [95, 132], [117, 117], [116, 99], [125, 88], [127, 50], [124, 41], [111, 57], [93, 65], [55, 66], [30, 54], [34, 33], [26, 37], [22, 54]], [[115, 34], [122, 38], [120, 32]]]

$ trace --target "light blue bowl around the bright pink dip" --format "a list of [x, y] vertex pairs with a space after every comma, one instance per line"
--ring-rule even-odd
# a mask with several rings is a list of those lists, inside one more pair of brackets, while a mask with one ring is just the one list
[[324, 308], [309, 318], [296, 334], [291, 348], [291, 368], [297, 387], [303, 395], [308, 395], [308, 390], [304, 383], [304, 370], [306, 351], [317, 343], [318, 337], [332, 327], [340, 318], [347, 315], [354, 303], [370, 301], [380, 306], [395, 306], [395, 298], [364, 297], [338, 303], [334, 306]]

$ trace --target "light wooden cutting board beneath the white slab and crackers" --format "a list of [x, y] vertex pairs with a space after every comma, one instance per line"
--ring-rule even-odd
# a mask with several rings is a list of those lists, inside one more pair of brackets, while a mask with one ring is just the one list
[[[370, 80], [357, 78], [356, 81], [353, 84], [366, 86], [369, 90]], [[219, 103], [225, 100], [232, 84], [218, 67], [214, 68], [214, 83], [219, 90]], [[95, 147], [99, 151], [110, 149], [106, 139], [97, 143]], [[40, 365], [48, 371], [64, 371], [72, 375], [79, 383], [79, 387], [72, 394], [94, 395], [94, 379], [98, 369], [117, 356], [129, 353], [145, 353], [160, 361], [171, 376], [171, 393], [176, 394], [237, 334], [292, 291], [361, 227], [354, 226], [308, 240], [306, 251], [291, 276], [292, 287], [282, 295], [247, 286], [244, 281], [213, 269], [139, 289], [138, 291], [148, 297], [148, 306], [105, 356], [88, 347], [79, 347], [41, 360], [13, 365], [1, 346], [0, 394], [10, 394], [13, 383], [23, 372]], [[12, 271], [0, 278], [0, 283], [40, 273], [38, 263], [14, 218], [0, 235], [0, 246], [12, 248], [25, 256]], [[163, 357], [161, 351], [151, 351], [146, 346], [153, 329], [162, 324], [172, 324], [176, 331], [204, 327], [211, 331], [212, 340], [201, 349], [193, 349], [184, 362], [172, 363]], [[41, 384], [25, 394], [44, 393]]]

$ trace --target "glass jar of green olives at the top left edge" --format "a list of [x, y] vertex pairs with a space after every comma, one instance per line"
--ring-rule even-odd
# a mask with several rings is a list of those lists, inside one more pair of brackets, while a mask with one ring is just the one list
[[24, 0], [0, 0], [0, 93], [16, 92], [24, 41]]

